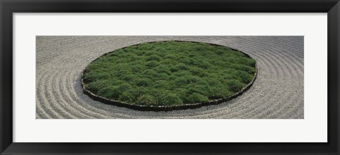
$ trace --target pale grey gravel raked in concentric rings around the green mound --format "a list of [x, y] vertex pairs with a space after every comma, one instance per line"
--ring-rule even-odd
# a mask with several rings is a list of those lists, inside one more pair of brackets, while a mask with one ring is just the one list
[[[254, 85], [219, 105], [147, 112], [94, 101], [83, 93], [81, 71], [97, 57], [142, 42], [208, 42], [241, 50], [256, 59]], [[302, 36], [37, 36], [36, 118], [302, 119]]]

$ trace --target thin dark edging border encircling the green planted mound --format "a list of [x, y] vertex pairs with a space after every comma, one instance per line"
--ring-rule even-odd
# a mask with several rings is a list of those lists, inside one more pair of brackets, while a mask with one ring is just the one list
[[[165, 41], [168, 41], [168, 40], [164, 40], [164, 42]], [[193, 41], [182, 41], [182, 40], [174, 40], [174, 41], [178, 41], [178, 42], [193, 42]], [[161, 41], [154, 41], [154, 42], [162, 42], [162, 40]], [[146, 43], [146, 42], [142, 42], [142, 43]], [[136, 44], [136, 45], [140, 45], [142, 43], [139, 43], [139, 44]], [[199, 43], [202, 43], [202, 42], [199, 42]], [[208, 42], [204, 42], [204, 43], [208, 43]], [[208, 44], [215, 45], [215, 44], [212, 44], [212, 43], [208, 43]], [[135, 45], [130, 45], [130, 46], [135, 46]], [[130, 46], [127, 46], [127, 47], [130, 47]], [[217, 46], [222, 46], [222, 45], [217, 45]], [[226, 46], [223, 46], [223, 47], [226, 47]], [[121, 49], [124, 49], [124, 48], [125, 47], [123, 47]], [[236, 50], [236, 49], [233, 49], [233, 48], [230, 48], [230, 49], [238, 51], [238, 52], [242, 52], [242, 51], [239, 51], [239, 50]], [[108, 52], [108, 53], [111, 53], [111, 52]], [[108, 54], [108, 53], [106, 53], [106, 54]], [[242, 52], [242, 53], [244, 53], [244, 52]], [[106, 55], [106, 54], [103, 54], [103, 55]], [[246, 53], [244, 53], [244, 54], [246, 54]], [[102, 57], [102, 56], [100, 56], [100, 57]], [[246, 57], [250, 57], [249, 54], [246, 54]], [[252, 57], [250, 57], [250, 58], [253, 59]], [[96, 61], [96, 59], [94, 59], [92, 62], [94, 62], [94, 61]], [[90, 62], [90, 64], [92, 62]], [[254, 74], [254, 79], [249, 84], [247, 84], [244, 88], [242, 88], [241, 91], [235, 93], [232, 96], [229, 96], [229, 98], [220, 98], [220, 99], [217, 99], [217, 100], [207, 101], [207, 102], [203, 102], [203, 103], [191, 103], [191, 104], [186, 104], [186, 105], [174, 105], [174, 106], [164, 106], [164, 105], [159, 105], [159, 106], [154, 106], [154, 105], [150, 105], [150, 106], [147, 106], [147, 105], [132, 105], [132, 104], [129, 104], [129, 103], [120, 102], [120, 101], [114, 101], [114, 100], [110, 100], [108, 98], [103, 98], [101, 96], [97, 96], [96, 94], [92, 93], [91, 91], [86, 90], [82, 78], [81, 78], [81, 87], [83, 88], [83, 92], [87, 96], [92, 98], [94, 101], [99, 101], [101, 103], [105, 103], [105, 104], [108, 104], [108, 105], [116, 105], [118, 107], [130, 108], [130, 109], [133, 109], [133, 110], [141, 110], [141, 111], [172, 111], [172, 110], [195, 109], [195, 108], [200, 108], [200, 107], [203, 107], [203, 106], [206, 106], [206, 105], [217, 105], [217, 104], [220, 104], [220, 103], [224, 103], [226, 101], [230, 101], [230, 100], [232, 100], [234, 98], [237, 98], [238, 96], [241, 96], [251, 86], [253, 86], [254, 81], [255, 81], [255, 79], [257, 77], [257, 72], [259, 70], [257, 68], [257, 64], [255, 64], [255, 68], [256, 68], [256, 72]], [[84, 69], [84, 71], [85, 71], [85, 69]], [[84, 71], [81, 72], [81, 76], [84, 74]]]

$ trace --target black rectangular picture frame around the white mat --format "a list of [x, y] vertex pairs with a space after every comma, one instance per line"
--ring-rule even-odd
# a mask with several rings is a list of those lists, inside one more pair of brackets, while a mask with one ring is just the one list
[[[339, 0], [1, 0], [1, 154], [340, 154]], [[17, 143], [13, 142], [13, 13], [246, 12], [327, 13], [327, 143]], [[18, 96], [20, 97], [20, 96]], [[29, 134], [29, 133], [28, 133]], [[313, 135], [310, 135], [313, 136]]]

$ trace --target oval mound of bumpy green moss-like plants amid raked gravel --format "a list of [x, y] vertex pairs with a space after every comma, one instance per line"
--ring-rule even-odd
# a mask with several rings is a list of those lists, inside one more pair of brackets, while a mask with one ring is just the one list
[[256, 76], [256, 61], [229, 47], [201, 42], [147, 42], [98, 57], [83, 87], [112, 101], [177, 106], [234, 96]]

